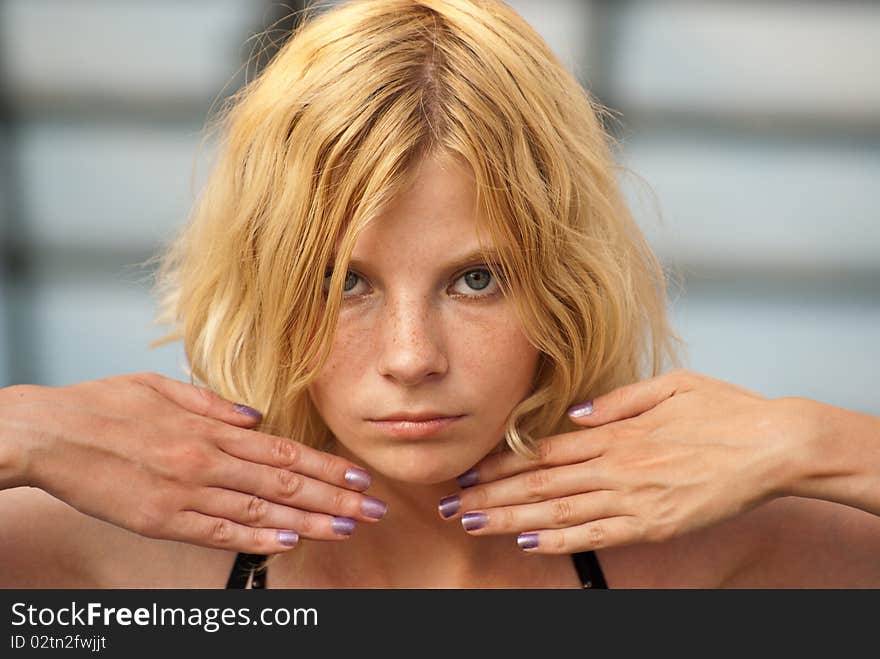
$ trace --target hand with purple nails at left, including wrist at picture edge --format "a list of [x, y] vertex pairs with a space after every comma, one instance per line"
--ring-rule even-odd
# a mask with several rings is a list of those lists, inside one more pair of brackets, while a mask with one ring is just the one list
[[344, 540], [355, 521], [384, 516], [361, 494], [364, 469], [253, 430], [259, 422], [156, 373], [15, 385], [0, 390], [0, 486], [38, 487], [150, 538], [253, 554]]

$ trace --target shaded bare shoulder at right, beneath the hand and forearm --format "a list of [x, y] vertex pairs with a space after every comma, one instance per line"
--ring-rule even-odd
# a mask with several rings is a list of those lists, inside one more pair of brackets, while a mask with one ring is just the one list
[[596, 554], [612, 588], [878, 588], [880, 517], [784, 497], [666, 542]]

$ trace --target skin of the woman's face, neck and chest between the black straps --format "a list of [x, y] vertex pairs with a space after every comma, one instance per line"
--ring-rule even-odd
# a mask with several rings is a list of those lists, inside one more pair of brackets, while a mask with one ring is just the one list
[[[283, 557], [273, 566], [279, 578], [407, 587], [425, 583], [427, 560], [437, 584], [577, 584], [567, 557], [524, 560], [511, 538], [469, 541], [434, 512], [455, 477], [503, 441], [538, 363], [512, 304], [480, 270], [486, 264], [461, 260], [479, 248], [473, 208], [463, 172], [431, 158], [359, 238], [330, 357], [310, 394], [336, 437], [334, 452], [368, 465], [371, 493], [388, 502], [388, 514], [344, 546]], [[463, 416], [419, 439], [369, 421], [423, 410]]]

